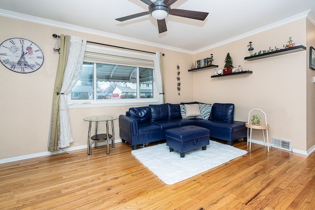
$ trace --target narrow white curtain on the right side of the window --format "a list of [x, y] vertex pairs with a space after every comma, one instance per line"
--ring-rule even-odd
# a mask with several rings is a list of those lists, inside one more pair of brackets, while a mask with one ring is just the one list
[[161, 53], [156, 52], [154, 55], [154, 68], [155, 68], [155, 79], [158, 88], [158, 102], [159, 104], [164, 103], [164, 87], [163, 87], [163, 75], [162, 75], [162, 60]]

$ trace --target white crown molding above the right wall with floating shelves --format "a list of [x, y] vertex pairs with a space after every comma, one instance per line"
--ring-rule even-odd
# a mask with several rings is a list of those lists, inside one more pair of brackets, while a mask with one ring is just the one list
[[[267, 26], [264, 26], [264, 27], [261, 27], [259, 29], [256, 29], [256, 30], [252, 30], [252, 31], [249, 31], [247, 33], [243, 33], [243, 34], [240, 34], [238, 36], [234, 36], [230, 39], [226, 39], [224, 41], [221, 41], [221, 42], [218, 42], [216, 44], [213, 44], [213, 45], [210, 45], [210, 46], [207, 46], [207, 47], [204, 47], [204, 48], [201, 48], [199, 50], [196, 50], [193, 52], [193, 54], [196, 54], [196, 53], [201, 53], [201, 52], [204, 52], [204, 51], [207, 51], [207, 50], [210, 50], [210, 49], [213, 49], [215, 47], [219, 47], [219, 46], [222, 46], [224, 44], [228, 44], [228, 43], [231, 43], [231, 42], [234, 42], [234, 41], [237, 41], [237, 40], [240, 40], [240, 39], [243, 39], [243, 38], [246, 38], [246, 37], [249, 37], [249, 36], [252, 36], [252, 35], [255, 35], [257, 33], [261, 33], [263, 31], [266, 31], [266, 30], [271, 30], [271, 29], [274, 29], [274, 28], [277, 28], [279, 26], [283, 26], [283, 25], [286, 25], [288, 23], [291, 23], [291, 22], [294, 22], [294, 21], [297, 21], [297, 20], [300, 20], [300, 19], [303, 19], [303, 18], [307, 18], [309, 19], [313, 17], [313, 21], [315, 20], [314, 18], [314, 14], [313, 16], [310, 15], [311, 14], [311, 10], [307, 10], [305, 12], [301, 12], [299, 14], [296, 14], [294, 16], [291, 16], [289, 18], [285, 18], [281, 21], [278, 21], [278, 22], [275, 22], [275, 23], [272, 23], [272, 24], [269, 24]], [[312, 22], [312, 21], [311, 21]], [[314, 24], [314, 22], [312, 22]]]

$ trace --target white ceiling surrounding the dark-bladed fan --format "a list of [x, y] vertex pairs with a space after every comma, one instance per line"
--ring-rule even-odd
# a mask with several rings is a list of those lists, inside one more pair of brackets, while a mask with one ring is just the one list
[[120, 38], [191, 52], [308, 14], [315, 19], [315, 0], [177, 0], [171, 8], [209, 15], [205, 21], [169, 15], [165, 19], [167, 31], [159, 34], [157, 21], [151, 15], [125, 22], [115, 20], [148, 11], [148, 5], [140, 0], [0, 0], [2, 16], [15, 14], [9, 12], [13, 11], [74, 25], [77, 29], [118, 34]]

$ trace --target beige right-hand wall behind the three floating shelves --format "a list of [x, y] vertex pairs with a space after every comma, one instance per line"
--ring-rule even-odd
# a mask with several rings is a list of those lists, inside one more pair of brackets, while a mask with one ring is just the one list
[[[262, 109], [270, 124], [272, 137], [291, 140], [292, 147], [307, 150], [306, 146], [306, 56], [307, 51], [248, 61], [250, 41], [254, 52], [269, 46], [283, 48], [289, 37], [296, 44], [306, 46], [306, 20], [299, 20], [278, 28], [261, 32], [244, 39], [202, 52], [195, 60], [214, 54], [214, 64], [223, 68], [229, 52], [234, 66], [252, 74], [211, 78], [213, 69], [194, 73], [194, 100], [230, 102], [235, 104], [235, 120], [248, 120], [253, 108]], [[310, 79], [310, 78], [309, 78]], [[314, 98], [314, 97], [313, 97]], [[261, 131], [254, 130], [252, 138], [262, 141]]]

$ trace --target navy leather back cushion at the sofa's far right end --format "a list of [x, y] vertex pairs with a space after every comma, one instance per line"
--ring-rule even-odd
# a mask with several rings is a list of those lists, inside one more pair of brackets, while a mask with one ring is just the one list
[[212, 120], [234, 120], [234, 104], [214, 103], [212, 106], [210, 118]]

